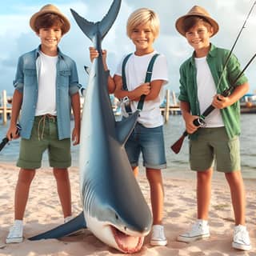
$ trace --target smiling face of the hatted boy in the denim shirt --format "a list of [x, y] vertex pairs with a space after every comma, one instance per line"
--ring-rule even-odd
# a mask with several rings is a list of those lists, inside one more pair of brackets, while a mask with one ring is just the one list
[[41, 39], [42, 51], [57, 50], [58, 42], [60, 42], [62, 38], [62, 30], [58, 26], [41, 28], [38, 31], [38, 37]]

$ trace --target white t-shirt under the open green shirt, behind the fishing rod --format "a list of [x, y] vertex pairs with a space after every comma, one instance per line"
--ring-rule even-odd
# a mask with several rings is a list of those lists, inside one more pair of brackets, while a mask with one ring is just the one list
[[[211, 105], [211, 102], [213, 102], [214, 95], [216, 94], [216, 86], [208, 63], [206, 62], [206, 57], [194, 58], [194, 61], [197, 68], [198, 101], [200, 113], [202, 114]], [[221, 111], [218, 109], [213, 110], [206, 117], [205, 121], [206, 127], [224, 126]]]

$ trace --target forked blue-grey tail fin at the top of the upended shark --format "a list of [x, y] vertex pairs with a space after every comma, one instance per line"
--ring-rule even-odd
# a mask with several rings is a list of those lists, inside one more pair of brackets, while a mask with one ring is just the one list
[[122, 0], [114, 0], [112, 5], [110, 6], [110, 10], [106, 14], [104, 18], [102, 18], [101, 22], [89, 22], [85, 18], [82, 18], [77, 12], [71, 10], [75, 21], [78, 23], [78, 26], [82, 30], [84, 34], [92, 41], [94, 35], [99, 31], [101, 34], [101, 38], [104, 38], [107, 32], [110, 30], [110, 27], [113, 25], [115, 19], [118, 16], [118, 11], [121, 6]]

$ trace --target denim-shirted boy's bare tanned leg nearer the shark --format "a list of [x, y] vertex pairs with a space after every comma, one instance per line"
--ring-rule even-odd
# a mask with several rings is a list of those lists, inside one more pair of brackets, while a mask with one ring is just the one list
[[71, 216], [70, 178], [67, 168], [54, 168], [58, 197], [62, 204], [64, 218]]

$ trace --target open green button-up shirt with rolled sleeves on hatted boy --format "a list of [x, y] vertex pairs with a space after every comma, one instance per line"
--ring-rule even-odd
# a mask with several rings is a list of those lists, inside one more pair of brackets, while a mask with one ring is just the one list
[[[230, 54], [230, 50], [221, 49], [215, 47], [213, 44], [210, 46], [210, 51], [207, 54], [206, 61], [210, 67], [210, 73], [214, 78], [214, 83], [217, 88], [217, 94], [221, 94], [223, 90], [232, 86], [240, 86], [247, 82], [247, 78], [244, 74], [238, 81], [235, 82], [238, 74], [240, 74], [240, 64], [238, 58], [234, 54], [230, 55], [230, 60], [226, 65], [226, 69], [223, 70], [226, 59]], [[222, 74], [223, 72], [223, 74]], [[189, 102], [190, 112], [193, 115], [200, 115], [200, 108], [198, 102], [198, 86], [197, 86], [197, 70], [194, 62], [194, 54], [182, 63], [180, 67], [180, 94], [178, 99], [182, 102]], [[219, 82], [222, 76], [221, 82]], [[218, 85], [219, 83], [219, 85]], [[206, 85], [207, 94], [207, 85]], [[221, 110], [222, 119], [226, 132], [229, 138], [233, 138], [235, 135], [240, 134], [240, 105], [239, 102], [235, 102], [233, 105], [228, 106]], [[194, 133], [190, 135], [190, 138], [196, 138]]]

